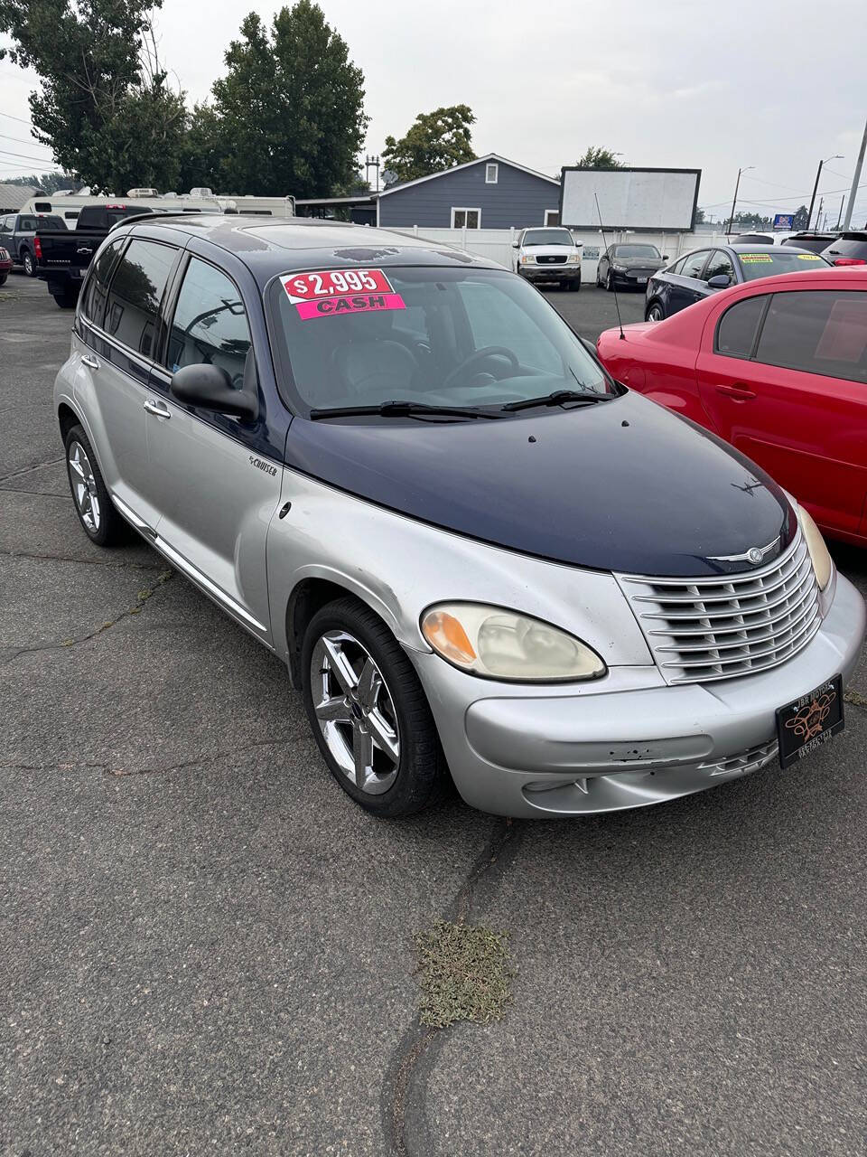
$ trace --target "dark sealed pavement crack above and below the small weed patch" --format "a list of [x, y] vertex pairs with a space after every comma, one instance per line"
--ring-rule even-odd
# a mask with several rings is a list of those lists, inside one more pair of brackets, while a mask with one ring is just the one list
[[[490, 839], [458, 889], [443, 916], [444, 920], [464, 923], [468, 919], [476, 886], [495, 871], [502, 874], [505, 870], [505, 853], [509, 849], [514, 855], [523, 831], [523, 826], [518, 827], [514, 820], [509, 818], [494, 824]], [[412, 1152], [432, 1152], [432, 1137], [428, 1136], [424, 1120], [428, 1079], [440, 1048], [454, 1027], [455, 1025], [450, 1025], [447, 1029], [431, 1029], [415, 1023], [406, 1031], [394, 1052], [380, 1099], [383, 1132], [388, 1140], [388, 1152], [392, 1157], [409, 1157]], [[407, 1105], [410, 1103], [414, 1105], [412, 1136], [407, 1122]]]

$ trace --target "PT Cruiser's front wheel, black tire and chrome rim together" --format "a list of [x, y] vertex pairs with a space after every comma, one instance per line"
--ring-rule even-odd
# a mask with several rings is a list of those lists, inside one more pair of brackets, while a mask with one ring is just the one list
[[380, 817], [412, 816], [442, 796], [447, 771], [424, 691], [370, 607], [347, 596], [317, 611], [302, 671], [313, 737], [347, 795]]

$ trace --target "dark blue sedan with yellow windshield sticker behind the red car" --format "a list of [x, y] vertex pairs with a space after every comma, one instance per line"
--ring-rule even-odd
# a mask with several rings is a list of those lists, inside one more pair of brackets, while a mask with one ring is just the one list
[[818, 253], [793, 246], [718, 245], [696, 249], [653, 274], [647, 282], [644, 316], [649, 322], [661, 322], [729, 286], [829, 264]]

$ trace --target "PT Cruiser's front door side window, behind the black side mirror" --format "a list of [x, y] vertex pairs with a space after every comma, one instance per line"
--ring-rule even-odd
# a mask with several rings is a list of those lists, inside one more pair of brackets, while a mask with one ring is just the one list
[[239, 390], [251, 346], [250, 326], [237, 287], [213, 265], [190, 261], [169, 336], [169, 369], [201, 362], [220, 366]]

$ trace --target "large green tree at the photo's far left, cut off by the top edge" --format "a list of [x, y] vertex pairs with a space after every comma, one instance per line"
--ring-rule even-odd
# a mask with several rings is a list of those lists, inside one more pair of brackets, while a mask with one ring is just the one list
[[151, 28], [162, 0], [0, 0], [0, 58], [34, 68], [39, 140], [84, 184], [124, 193], [171, 187], [184, 131], [183, 94], [166, 84]]

